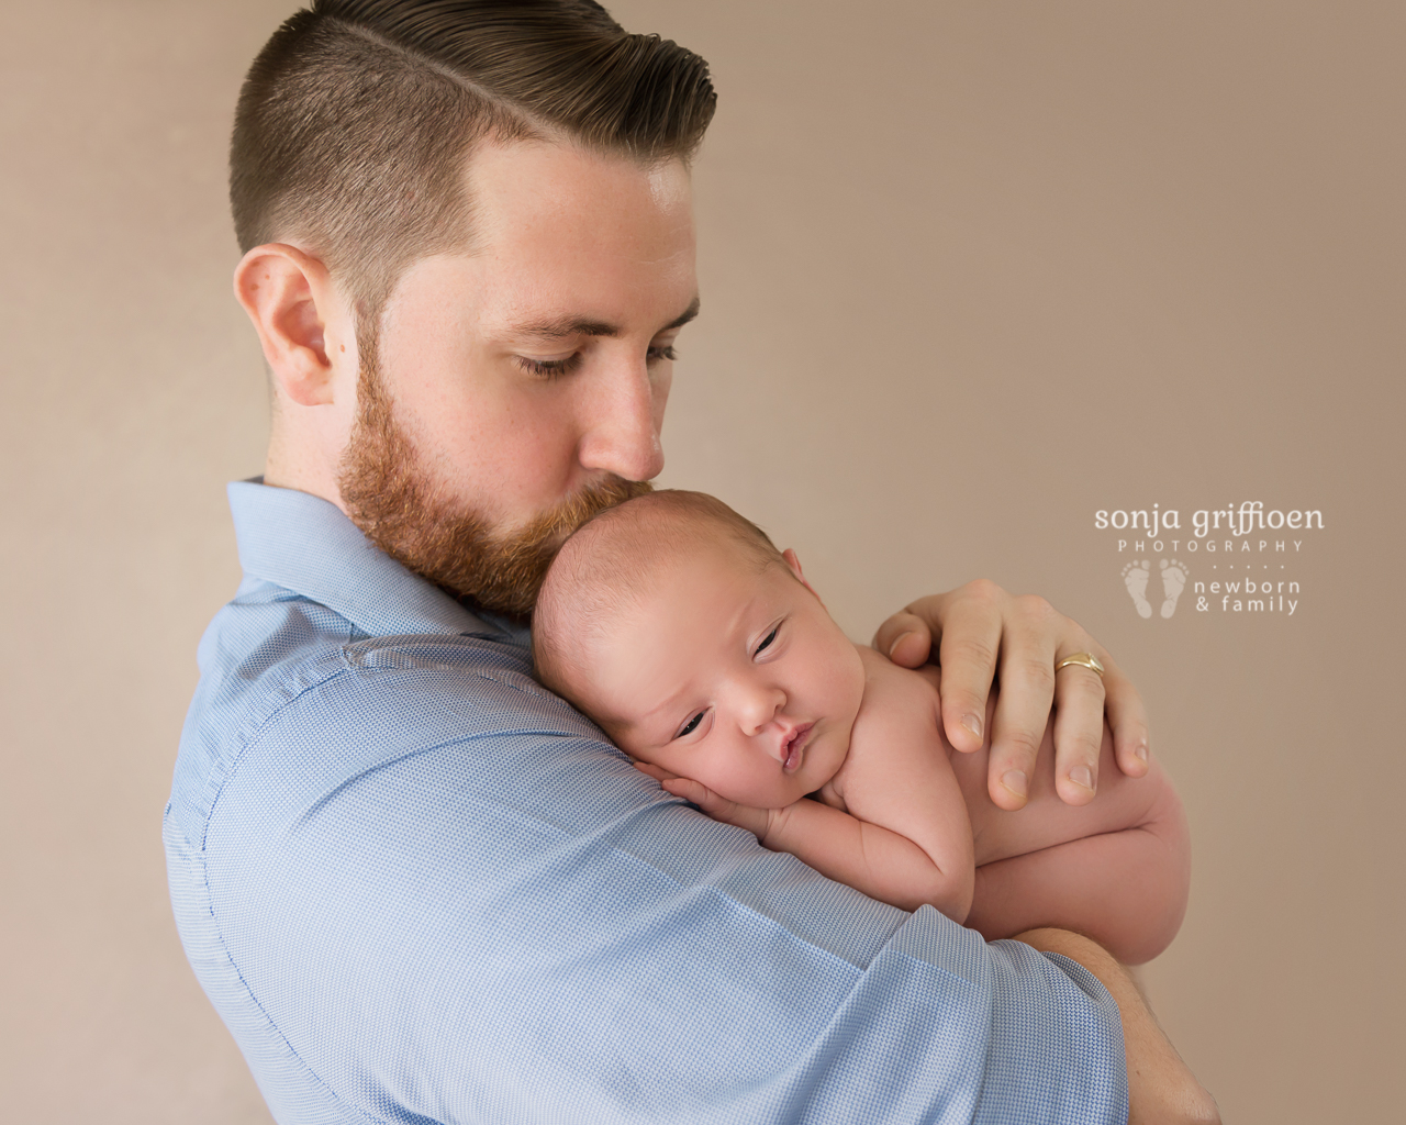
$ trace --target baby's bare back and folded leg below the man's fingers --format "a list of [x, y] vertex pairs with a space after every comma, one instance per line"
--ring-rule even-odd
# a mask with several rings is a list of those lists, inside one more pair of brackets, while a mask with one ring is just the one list
[[1053, 721], [1018, 813], [987, 796], [986, 750], [949, 751], [976, 841], [966, 924], [988, 941], [1052, 925], [1085, 934], [1125, 963], [1150, 960], [1171, 944], [1187, 908], [1191, 842], [1181, 800], [1156, 761], [1147, 776], [1125, 776], [1105, 728], [1098, 795], [1081, 807], [1064, 804], [1054, 792], [1052, 731]]

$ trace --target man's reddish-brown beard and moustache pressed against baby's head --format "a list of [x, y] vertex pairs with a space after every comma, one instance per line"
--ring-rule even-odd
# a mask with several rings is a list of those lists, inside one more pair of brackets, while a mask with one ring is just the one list
[[357, 384], [357, 419], [337, 484], [357, 527], [404, 567], [484, 609], [524, 617], [537, 602], [562, 541], [596, 512], [651, 489], [609, 477], [502, 537], [456, 502], [419, 464], [415, 443], [394, 418], [375, 368], [374, 346]]

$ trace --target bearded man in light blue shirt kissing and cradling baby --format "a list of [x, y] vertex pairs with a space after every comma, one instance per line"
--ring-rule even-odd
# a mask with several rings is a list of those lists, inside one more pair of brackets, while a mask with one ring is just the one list
[[[274, 416], [166, 814], [191, 963], [284, 1122], [1211, 1118], [1092, 942], [831, 883], [530, 678], [553, 550], [662, 467], [711, 111], [589, 0], [319, 0], [256, 59], [235, 290]], [[965, 748], [1001, 654], [1002, 807], [1052, 692], [1062, 796], [1095, 799], [1105, 690], [1146, 769], [1136, 692], [1043, 602], [976, 584], [877, 645], [934, 638]]]

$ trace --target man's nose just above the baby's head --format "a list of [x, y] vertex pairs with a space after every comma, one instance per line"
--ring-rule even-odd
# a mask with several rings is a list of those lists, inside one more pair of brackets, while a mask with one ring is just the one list
[[668, 385], [651, 378], [644, 357], [620, 357], [593, 381], [578, 454], [582, 468], [648, 481], [664, 470], [659, 423]]

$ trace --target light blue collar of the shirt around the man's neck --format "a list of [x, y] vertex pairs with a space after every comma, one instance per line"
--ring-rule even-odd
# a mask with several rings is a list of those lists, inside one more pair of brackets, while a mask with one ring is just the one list
[[229, 509], [245, 574], [319, 602], [373, 637], [447, 633], [526, 644], [524, 629], [465, 609], [319, 496], [233, 481]]

